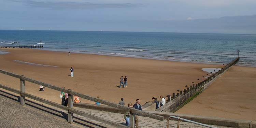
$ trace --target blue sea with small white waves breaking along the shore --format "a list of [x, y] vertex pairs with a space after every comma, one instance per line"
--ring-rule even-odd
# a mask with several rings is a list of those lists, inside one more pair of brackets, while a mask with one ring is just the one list
[[[40, 42], [41, 41], [41, 42]], [[255, 34], [0, 30], [0, 46], [256, 67]], [[37, 48], [39, 49], [39, 48]], [[0, 49], [0, 54], [8, 53]]]

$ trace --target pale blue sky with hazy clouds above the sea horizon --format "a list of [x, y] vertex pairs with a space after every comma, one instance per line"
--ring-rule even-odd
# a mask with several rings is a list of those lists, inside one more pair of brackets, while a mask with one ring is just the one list
[[256, 34], [256, 0], [0, 0], [0, 6], [0, 29]]

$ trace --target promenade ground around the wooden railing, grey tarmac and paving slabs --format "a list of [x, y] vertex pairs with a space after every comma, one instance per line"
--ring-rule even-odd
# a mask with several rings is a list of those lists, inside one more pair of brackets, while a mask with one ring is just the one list
[[[96, 120], [85, 118], [74, 114], [74, 123], [67, 122], [68, 112], [49, 105], [37, 103], [26, 99], [26, 105], [22, 106], [18, 102], [18, 96], [6, 93], [0, 89], [0, 127], [88, 127], [88, 128], [112, 128], [112, 126], [102, 124]], [[105, 112], [99, 110], [76, 108], [83, 112], [109, 119], [113, 122], [125, 124], [123, 114]], [[167, 120], [159, 121], [148, 117], [140, 117], [140, 128], [165, 128]], [[177, 121], [170, 120], [169, 128], [177, 127]], [[215, 126], [219, 128], [228, 128]], [[180, 122], [180, 128], [203, 128], [187, 122]]]

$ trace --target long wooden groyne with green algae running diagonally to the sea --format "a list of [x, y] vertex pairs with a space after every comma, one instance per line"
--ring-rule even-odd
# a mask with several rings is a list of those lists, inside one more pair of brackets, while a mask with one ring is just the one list
[[221, 75], [223, 72], [228, 70], [232, 65], [234, 65], [239, 60], [239, 57], [234, 59], [232, 62], [228, 63], [226, 66], [224, 66], [221, 70], [219, 70], [216, 73], [213, 73], [211, 76], [209, 76], [206, 80], [203, 80], [202, 82], [198, 84], [193, 84], [187, 87], [187, 89], [184, 89], [183, 91], [180, 90], [179, 93], [172, 93], [171, 95], [167, 96], [167, 103], [158, 109], [156, 111], [159, 112], [175, 112], [179, 110], [182, 106], [184, 106], [186, 103], [194, 99], [197, 95], [199, 95], [208, 85], [210, 85], [219, 75]]

